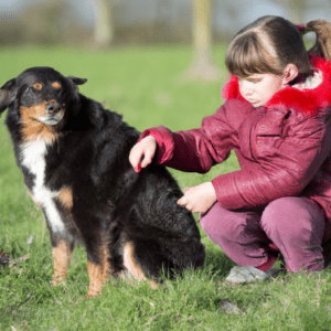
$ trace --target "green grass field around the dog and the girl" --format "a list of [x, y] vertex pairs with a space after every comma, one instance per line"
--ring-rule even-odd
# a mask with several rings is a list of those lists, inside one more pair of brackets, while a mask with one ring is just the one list
[[[224, 51], [215, 47], [214, 56], [225, 72]], [[88, 78], [81, 92], [105, 102], [139, 130], [158, 125], [172, 130], [200, 127], [201, 119], [222, 104], [221, 86], [227, 79], [224, 75], [221, 83], [181, 82], [180, 73], [192, 61], [184, 46], [108, 53], [3, 49], [0, 61], [0, 84], [35, 65]], [[102, 296], [83, 299], [88, 276], [82, 246], [73, 254], [66, 286], [50, 286], [49, 232], [26, 194], [3, 120], [4, 116], [0, 119], [0, 248], [12, 257], [29, 253], [30, 259], [0, 274], [0, 330], [330, 330], [329, 270], [231, 287], [223, 280], [234, 264], [203, 233], [205, 269], [166, 279], [159, 290], [110, 279]], [[232, 154], [207, 174], [171, 172], [184, 188], [237, 169]], [[234, 303], [237, 313], [227, 314], [224, 300]]]

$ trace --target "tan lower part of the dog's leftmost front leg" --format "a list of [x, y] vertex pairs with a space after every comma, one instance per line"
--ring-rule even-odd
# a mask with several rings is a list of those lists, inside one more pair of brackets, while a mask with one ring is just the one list
[[54, 257], [53, 285], [64, 284], [71, 261], [74, 244], [65, 239], [52, 241]]

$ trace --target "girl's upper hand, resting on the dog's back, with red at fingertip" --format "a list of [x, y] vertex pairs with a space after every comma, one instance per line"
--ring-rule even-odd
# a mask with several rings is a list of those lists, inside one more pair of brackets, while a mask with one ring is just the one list
[[[141, 170], [141, 168], [146, 168], [149, 163], [151, 163], [157, 147], [157, 139], [152, 136], [145, 137], [132, 147], [129, 161], [137, 173]], [[143, 160], [141, 161], [142, 157]]]

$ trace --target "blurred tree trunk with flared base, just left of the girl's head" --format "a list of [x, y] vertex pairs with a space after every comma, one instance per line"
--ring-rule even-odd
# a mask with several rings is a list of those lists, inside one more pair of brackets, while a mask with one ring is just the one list
[[193, 0], [193, 43], [195, 57], [184, 73], [190, 81], [218, 81], [221, 71], [214, 64], [211, 51], [210, 0]]

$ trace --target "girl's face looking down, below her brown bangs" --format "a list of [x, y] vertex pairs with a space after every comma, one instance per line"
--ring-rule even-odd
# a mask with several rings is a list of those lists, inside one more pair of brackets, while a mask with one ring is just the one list
[[238, 81], [242, 96], [254, 107], [260, 107], [285, 87], [287, 79], [284, 75], [254, 74]]

